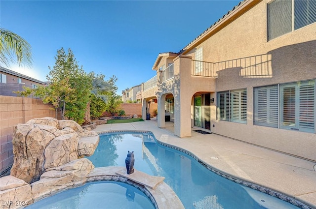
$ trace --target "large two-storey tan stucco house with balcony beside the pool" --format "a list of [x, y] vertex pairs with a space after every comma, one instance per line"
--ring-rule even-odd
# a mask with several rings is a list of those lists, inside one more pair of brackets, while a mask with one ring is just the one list
[[[142, 85], [174, 133], [191, 128], [316, 160], [316, 1], [243, 0]], [[145, 118], [144, 118], [145, 119]]]

